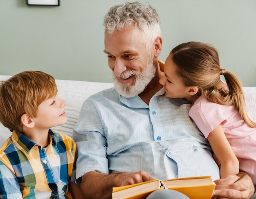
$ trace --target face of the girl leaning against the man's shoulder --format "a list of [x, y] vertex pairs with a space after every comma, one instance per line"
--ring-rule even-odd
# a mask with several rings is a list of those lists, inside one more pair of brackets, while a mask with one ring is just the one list
[[164, 63], [164, 75], [159, 80], [165, 89], [165, 96], [171, 98], [189, 99], [190, 87], [185, 87], [182, 78], [176, 72], [176, 66], [173, 63], [172, 55], [166, 58]]

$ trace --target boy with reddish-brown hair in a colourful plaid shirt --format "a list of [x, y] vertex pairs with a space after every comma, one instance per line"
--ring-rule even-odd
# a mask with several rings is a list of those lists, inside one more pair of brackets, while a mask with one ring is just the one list
[[0, 148], [0, 198], [83, 198], [71, 182], [76, 144], [50, 130], [66, 121], [52, 76], [26, 71], [2, 82], [0, 122], [12, 135]]

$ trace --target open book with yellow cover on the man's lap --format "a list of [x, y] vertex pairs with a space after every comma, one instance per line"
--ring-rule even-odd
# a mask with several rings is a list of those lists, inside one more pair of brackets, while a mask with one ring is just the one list
[[145, 199], [159, 189], [173, 189], [190, 199], [211, 199], [215, 183], [211, 176], [152, 180], [128, 186], [113, 187], [112, 199]]

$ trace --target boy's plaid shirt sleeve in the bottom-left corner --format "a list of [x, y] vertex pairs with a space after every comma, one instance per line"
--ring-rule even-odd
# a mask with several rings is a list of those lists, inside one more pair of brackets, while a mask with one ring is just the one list
[[18, 179], [2, 161], [0, 161], [0, 198], [22, 199]]

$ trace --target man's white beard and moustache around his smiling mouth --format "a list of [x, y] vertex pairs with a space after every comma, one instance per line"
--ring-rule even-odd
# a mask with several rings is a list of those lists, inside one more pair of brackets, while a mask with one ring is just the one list
[[156, 71], [156, 68], [153, 65], [153, 60], [152, 60], [152, 61], [148, 61], [146, 69], [141, 73], [137, 72], [136, 70], [132, 70], [132, 71], [123, 72], [119, 76], [125, 79], [134, 75], [135, 83], [134, 84], [132, 83], [133, 85], [131, 85], [130, 83], [119, 82], [117, 76], [113, 72], [112, 78], [113, 78], [114, 87], [117, 90], [117, 92], [122, 96], [126, 98], [134, 97], [144, 91], [146, 86], [150, 83], [150, 81], [155, 76], [155, 71]]

